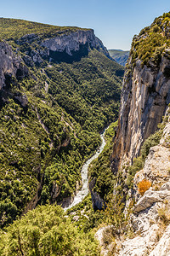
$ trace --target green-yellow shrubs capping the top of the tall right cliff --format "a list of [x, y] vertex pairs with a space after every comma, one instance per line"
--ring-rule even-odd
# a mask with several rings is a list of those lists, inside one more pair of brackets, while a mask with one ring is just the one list
[[161, 56], [170, 57], [169, 22], [170, 13], [164, 14], [156, 18], [150, 26], [142, 29], [139, 36], [134, 36], [130, 52], [134, 65], [140, 60], [143, 66], [156, 67], [161, 62]]

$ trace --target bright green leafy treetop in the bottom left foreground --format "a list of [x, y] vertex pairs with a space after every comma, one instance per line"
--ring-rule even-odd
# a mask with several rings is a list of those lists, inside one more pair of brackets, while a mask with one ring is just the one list
[[58, 206], [37, 207], [5, 231], [0, 231], [0, 254], [99, 255], [92, 233], [77, 230]]

